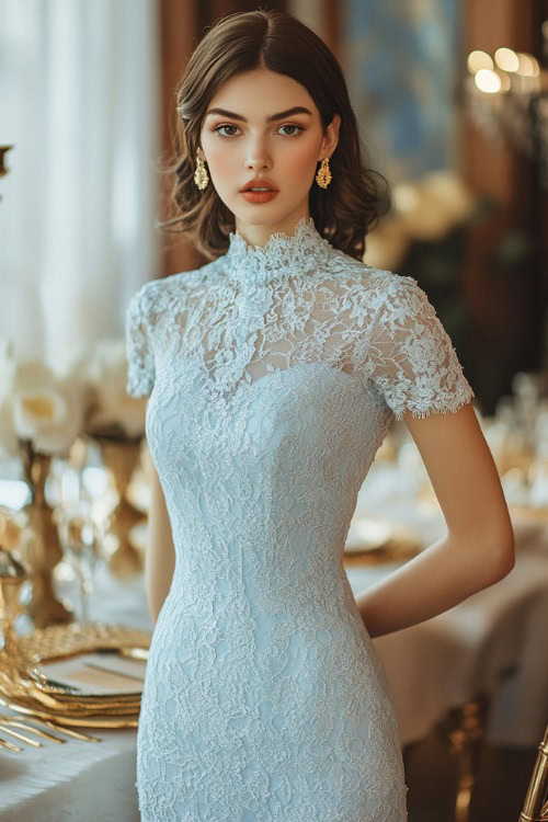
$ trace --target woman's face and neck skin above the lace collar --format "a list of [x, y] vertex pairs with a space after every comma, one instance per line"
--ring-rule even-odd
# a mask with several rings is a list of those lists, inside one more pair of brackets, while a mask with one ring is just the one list
[[[297, 107], [300, 111], [288, 113]], [[335, 114], [323, 134], [305, 87], [269, 69], [238, 75], [214, 95], [202, 126], [199, 156], [248, 242], [262, 246], [274, 231], [293, 233], [296, 222], [310, 216], [308, 193], [316, 185], [318, 161], [336, 147], [340, 119]], [[266, 179], [276, 194], [250, 202], [241, 190], [253, 179]]]

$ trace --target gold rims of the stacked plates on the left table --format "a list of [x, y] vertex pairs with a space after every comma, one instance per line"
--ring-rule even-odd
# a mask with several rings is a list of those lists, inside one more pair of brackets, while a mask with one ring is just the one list
[[0, 652], [0, 705], [28, 716], [65, 724], [95, 728], [137, 727], [140, 690], [87, 693], [66, 687], [39, 672], [43, 663], [89, 652], [111, 652], [146, 661], [150, 631], [101, 623], [49, 626], [19, 638], [16, 652]]

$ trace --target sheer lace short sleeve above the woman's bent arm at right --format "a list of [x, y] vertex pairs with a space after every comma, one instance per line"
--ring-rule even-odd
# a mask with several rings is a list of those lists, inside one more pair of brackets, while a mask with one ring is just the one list
[[[393, 275], [392, 275], [393, 276]], [[434, 307], [416, 279], [396, 275], [375, 316], [367, 374], [401, 420], [458, 411], [475, 396]]]

